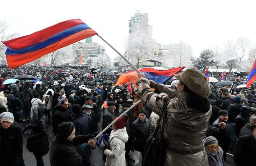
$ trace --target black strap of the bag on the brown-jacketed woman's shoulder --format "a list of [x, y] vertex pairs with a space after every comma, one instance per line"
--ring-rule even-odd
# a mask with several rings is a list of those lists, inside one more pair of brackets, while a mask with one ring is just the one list
[[160, 132], [161, 132], [161, 135], [164, 134], [164, 125], [165, 125], [165, 122], [167, 119], [167, 107], [168, 107], [170, 100], [171, 99], [169, 97], [165, 98], [165, 100], [164, 100], [163, 109], [160, 110], [160, 116], [159, 116], [159, 119], [157, 120], [157, 127], [156, 127], [153, 135], [156, 135], [158, 130], [160, 129], [160, 122], [162, 119], [163, 119], [163, 123], [162, 123], [161, 129], [160, 129]]

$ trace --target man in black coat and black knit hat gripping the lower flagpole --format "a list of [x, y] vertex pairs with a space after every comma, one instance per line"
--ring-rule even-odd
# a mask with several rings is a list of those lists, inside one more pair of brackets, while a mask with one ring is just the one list
[[[72, 122], [62, 122], [58, 125], [58, 134], [52, 139], [50, 146], [51, 166], [90, 166], [89, 157], [92, 146], [95, 146], [96, 135], [75, 136], [75, 125]], [[82, 153], [78, 153], [75, 146], [87, 142]]]

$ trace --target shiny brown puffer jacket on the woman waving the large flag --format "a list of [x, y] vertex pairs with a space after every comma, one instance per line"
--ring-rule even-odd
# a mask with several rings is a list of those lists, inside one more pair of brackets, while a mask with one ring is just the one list
[[[149, 109], [159, 115], [164, 100], [174, 91], [163, 84], [158, 84], [154, 93], [150, 82], [142, 78], [137, 82], [140, 100]], [[204, 139], [212, 108], [206, 113], [189, 109], [185, 101], [185, 92], [180, 91], [167, 107], [167, 122], [164, 137], [167, 140], [164, 166], [209, 166]]]

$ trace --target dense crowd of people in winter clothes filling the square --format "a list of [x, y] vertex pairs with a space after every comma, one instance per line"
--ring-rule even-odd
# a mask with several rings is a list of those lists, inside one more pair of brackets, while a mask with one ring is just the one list
[[[139, 103], [104, 132], [108, 138], [102, 158], [105, 166], [137, 165], [131, 154], [143, 156], [147, 139], [157, 127], [164, 102], [167, 121], [164, 129], [164, 165], [224, 166], [227, 151], [234, 151], [238, 166], [255, 166], [256, 85], [250, 89], [214, 87], [204, 74], [189, 68], [176, 74], [171, 85], [157, 84], [139, 74], [137, 85], [114, 86], [117, 73], [98, 71], [41, 71], [23, 68], [4, 70], [0, 76], [0, 161], [3, 166], [25, 165], [23, 136], [37, 166], [50, 151], [51, 166], [90, 166], [94, 137], [119, 115]], [[28, 74], [34, 80], [8, 78]], [[173, 78], [174, 79], [174, 78]], [[174, 81], [175, 82], [175, 81]], [[210, 88], [211, 87], [211, 88]], [[152, 91], [154, 88], [154, 91]], [[102, 126], [99, 122], [102, 121]], [[19, 123], [27, 123], [22, 130]], [[55, 137], [49, 143], [47, 128]], [[101, 144], [102, 139], [99, 139]]]

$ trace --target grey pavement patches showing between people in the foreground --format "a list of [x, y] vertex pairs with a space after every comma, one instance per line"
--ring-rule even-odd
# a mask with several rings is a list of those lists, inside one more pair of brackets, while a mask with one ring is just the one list
[[[27, 125], [27, 124], [21, 123], [20, 127], [22, 127], [22, 129], [24, 129], [25, 125]], [[102, 127], [102, 120], [98, 124], [97, 132], [101, 131], [101, 127]], [[27, 137], [29, 137], [30, 132], [31, 132], [31, 130], [27, 130], [25, 132], [25, 134], [23, 135], [23, 137], [24, 137], [23, 157], [24, 157], [24, 161], [25, 161], [25, 166], [35, 166], [36, 165], [35, 157], [33, 156], [33, 154], [31, 152], [27, 151], [27, 148], [26, 148]], [[54, 137], [52, 134], [52, 126], [47, 127], [47, 134], [48, 134], [49, 142], [51, 142], [51, 140]], [[232, 154], [231, 151], [229, 151], [229, 153]], [[99, 147], [92, 150], [92, 154], [91, 154], [92, 166], [104, 166], [104, 161], [102, 160], [102, 154], [103, 154], [103, 149], [101, 149]], [[43, 156], [43, 159], [45, 162], [45, 166], [50, 166], [49, 152], [47, 155]], [[225, 166], [235, 166], [232, 156], [227, 155], [227, 161], [225, 162]]]

